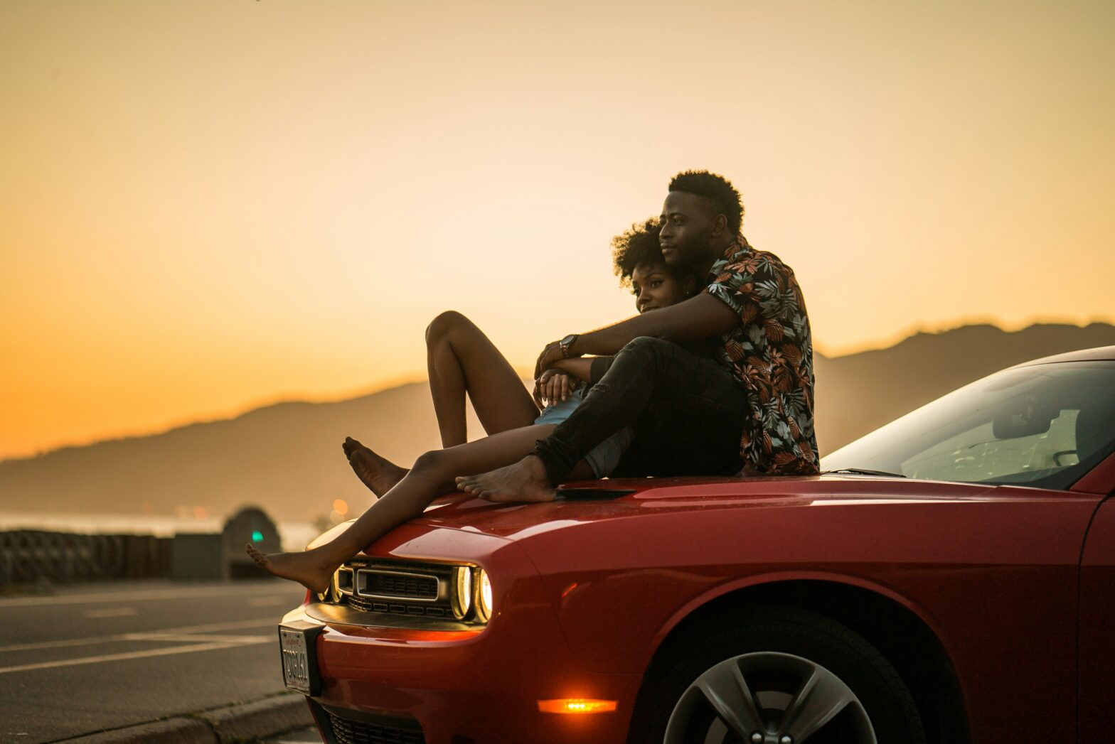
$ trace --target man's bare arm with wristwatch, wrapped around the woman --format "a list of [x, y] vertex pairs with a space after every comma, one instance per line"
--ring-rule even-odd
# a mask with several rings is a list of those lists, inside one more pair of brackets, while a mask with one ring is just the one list
[[[669, 307], [582, 333], [573, 341], [570, 353], [614, 354], [639, 336], [655, 336], [675, 343], [697, 341], [719, 335], [739, 324], [739, 315], [727, 303], [701, 293]], [[561, 346], [552, 343], [539, 356], [535, 376], [563, 359]]]

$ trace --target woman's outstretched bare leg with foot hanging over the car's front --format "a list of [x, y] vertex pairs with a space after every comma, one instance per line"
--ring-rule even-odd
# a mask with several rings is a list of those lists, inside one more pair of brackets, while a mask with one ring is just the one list
[[[343, 533], [323, 546], [303, 552], [277, 552], [265, 556], [248, 545], [255, 562], [277, 576], [323, 591], [342, 562], [360, 552], [403, 522], [419, 516], [429, 502], [452, 493], [454, 478], [485, 472], [524, 457], [534, 442], [544, 439], [553, 424], [513, 429], [475, 442], [423, 454], [414, 468], [390, 491], [371, 505]], [[592, 469], [581, 461], [574, 478], [591, 478]]]

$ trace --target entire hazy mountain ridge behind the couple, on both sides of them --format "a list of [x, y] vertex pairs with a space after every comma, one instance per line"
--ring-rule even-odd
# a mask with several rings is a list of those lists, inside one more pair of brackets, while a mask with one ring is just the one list
[[[830, 452], [953, 388], [1029, 359], [1115, 345], [1115, 326], [971, 325], [919, 333], [890, 349], [818, 356], [817, 435]], [[482, 430], [475, 418], [469, 431]], [[334, 403], [278, 403], [235, 419], [0, 462], [0, 511], [155, 515], [256, 503], [282, 520], [328, 513], [336, 498], [371, 502], [341, 453], [352, 435], [409, 464], [438, 447], [424, 383]]]

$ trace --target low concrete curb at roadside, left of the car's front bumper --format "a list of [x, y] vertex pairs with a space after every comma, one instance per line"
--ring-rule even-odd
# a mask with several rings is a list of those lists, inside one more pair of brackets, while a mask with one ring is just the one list
[[254, 703], [203, 711], [65, 740], [67, 744], [234, 744], [313, 725], [306, 698], [282, 694]]

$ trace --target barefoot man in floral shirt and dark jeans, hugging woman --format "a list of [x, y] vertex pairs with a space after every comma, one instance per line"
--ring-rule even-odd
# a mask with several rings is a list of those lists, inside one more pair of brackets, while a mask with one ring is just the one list
[[[678, 174], [662, 206], [668, 266], [708, 276], [699, 295], [549, 344], [593, 361], [584, 403], [520, 462], [457, 479], [493, 500], [549, 500], [573, 464], [627, 424], [636, 440], [617, 476], [813, 474], [813, 344], [794, 272], [739, 232], [739, 193], [723, 176]], [[678, 344], [716, 339], [712, 359]]]

